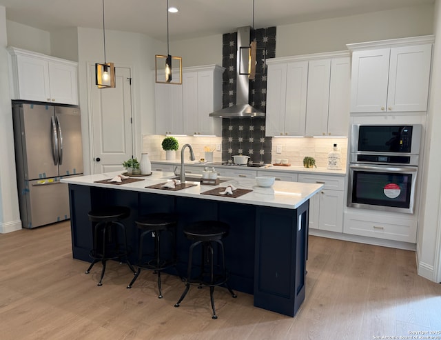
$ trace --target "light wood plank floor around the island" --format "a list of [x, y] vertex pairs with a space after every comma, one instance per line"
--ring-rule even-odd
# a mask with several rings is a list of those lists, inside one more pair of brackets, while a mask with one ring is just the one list
[[[127, 266], [72, 259], [68, 222], [0, 234], [0, 339], [375, 339], [441, 331], [441, 285], [416, 274], [415, 253], [309, 238], [307, 294], [296, 317], [253, 307], [252, 295], [208, 290], [142, 272], [132, 290]], [[433, 334], [441, 339], [441, 334]], [[384, 338], [383, 338], [384, 339]], [[398, 339], [398, 338], [397, 338]], [[435, 339], [435, 338], [433, 338]]]

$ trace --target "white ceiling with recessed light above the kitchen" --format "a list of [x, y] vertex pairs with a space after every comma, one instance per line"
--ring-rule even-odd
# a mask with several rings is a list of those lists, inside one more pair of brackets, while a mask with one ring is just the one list
[[[235, 32], [252, 26], [253, 0], [169, 0], [170, 40]], [[254, 28], [344, 17], [434, 0], [255, 0]], [[102, 0], [0, 0], [8, 20], [41, 30], [102, 28]], [[105, 0], [105, 29], [167, 39], [166, 0]]]

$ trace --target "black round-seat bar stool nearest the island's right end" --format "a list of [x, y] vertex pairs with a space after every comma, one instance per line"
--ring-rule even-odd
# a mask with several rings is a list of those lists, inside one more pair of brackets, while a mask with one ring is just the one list
[[[213, 292], [215, 286], [224, 285], [232, 294], [232, 297], [237, 297], [227, 283], [228, 275], [227, 269], [225, 268], [225, 252], [222, 239], [227, 236], [228, 230], [229, 225], [220, 221], [198, 221], [196, 223], [192, 223], [184, 229], [187, 239], [194, 242], [189, 248], [185, 290], [179, 301], [174, 305], [175, 307], [179, 307], [179, 303], [181, 303], [185, 298], [185, 295], [187, 295], [190, 285], [196, 285], [198, 288], [209, 287], [209, 296], [212, 301], [213, 309], [212, 319], [218, 318], [216, 315], [216, 310], [214, 309]], [[220, 265], [216, 266], [217, 268], [220, 267], [220, 272], [219, 270], [215, 270], [214, 243], [218, 244], [218, 255], [220, 255], [222, 262]], [[202, 246], [201, 265], [199, 266], [200, 272], [198, 277], [192, 277], [193, 250], [199, 244]]]

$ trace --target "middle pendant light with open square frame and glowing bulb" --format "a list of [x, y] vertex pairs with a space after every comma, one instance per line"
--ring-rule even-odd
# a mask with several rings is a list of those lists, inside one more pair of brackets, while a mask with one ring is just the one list
[[167, 0], [167, 55], [156, 54], [154, 72], [156, 83], [181, 84], [182, 83], [182, 58], [172, 57], [169, 52], [168, 34], [168, 0]]

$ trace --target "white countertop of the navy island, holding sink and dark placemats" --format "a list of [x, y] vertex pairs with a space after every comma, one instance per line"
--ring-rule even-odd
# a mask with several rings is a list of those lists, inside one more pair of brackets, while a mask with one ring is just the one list
[[[285, 209], [297, 209], [299, 206], [302, 205], [302, 203], [311, 198], [323, 187], [322, 184], [316, 183], [276, 181], [274, 183], [274, 186], [272, 186], [271, 188], [260, 188], [256, 185], [255, 179], [236, 177], [220, 183], [219, 186], [207, 186], [201, 185], [201, 183], [187, 181], [189, 183], [197, 183], [197, 185], [177, 191], [145, 188], [146, 186], [153, 186], [154, 184], [165, 183], [167, 180], [170, 180], [168, 178], [174, 177], [174, 174], [172, 172], [158, 171], [154, 171], [151, 176], [136, 177], [139, 179], [144, 179], [144, 181], [136, 181], [133, 183], [122, 185], [111, 183], [94, 183], [95, 181], [101, 181], [103, 179], [112, 179], [118, 174], [121, 174], [121, 171], [108, 172], [105, 174], [92, 174], [72, 178], [65, 177], [61, 179], [61, 182], [76, 184], [80, 186], [94, 186], [115, 190], [150, 192], [154, 194], [167, 194], [177, 197], [192, 197], [196, 199], [209, 199], [214, 201], [243, 203], [254, 206], [268, 206]], [[253, 191], [236, 198], [201, 194], [201, 192], [212, 190], [217, 187], [225, 187], [228, 186], [228, 184], [232, 184], [236, 188], [252, 189]]]

